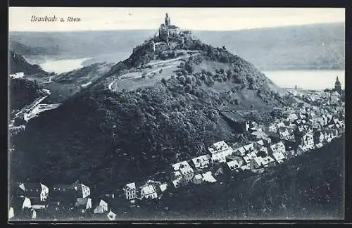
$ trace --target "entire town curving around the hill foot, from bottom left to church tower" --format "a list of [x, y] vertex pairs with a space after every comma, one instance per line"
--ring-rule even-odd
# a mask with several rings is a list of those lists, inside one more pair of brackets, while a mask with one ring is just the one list
[[8, 218], [118, 220], [122, 217], [118, 210], [123, 211], [123, 208], [142, 207], [142, 202], [158, 201], [168, 191], [191, 185], [222, 184], [218, 179], [224, 175], [230, 178], [241, 172], [260, 175], [344, 134], [344, 91], [338, 78], [334, 89], [302, 91], [295, 88], [289, 92], [301, 103], [285, 107], [282, 110], [285, 118], [264, 123], [245, 120], [241, 123], [242, 132], [249, 140], [214, 142], [202, 156], [170, 164], [169, 170], [161, 172], [161, 179], [131, 180], [117, 187], [115, 192], [104, 194], [94, 193], [87, 183], [79, 181], [54, 186], [46, 186], [44, 182], [18, 183], [11, 191]]

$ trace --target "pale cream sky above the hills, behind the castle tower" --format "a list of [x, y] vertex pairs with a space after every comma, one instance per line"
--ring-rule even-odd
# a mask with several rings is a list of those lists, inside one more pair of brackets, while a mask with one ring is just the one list
[[[344, 8], [77, 8], [9, 7], [8, 30], [83, 31], [156, 30], [165, 13], [171, 24], [187, 30], [246, 30], [260, 27], [337, 23], [345, 21]], [[31, 22], [36, 17], [56, 22]], [[80, 22], [60, 22], [60, 18]]]

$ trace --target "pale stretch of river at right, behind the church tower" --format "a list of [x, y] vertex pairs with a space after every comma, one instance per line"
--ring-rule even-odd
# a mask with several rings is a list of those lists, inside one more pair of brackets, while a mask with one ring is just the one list
[[333, 88], [336, 77], [339, 77], [341, 87], [345, 87], [344, 70], [276, 70], [264, 71], [272, 82], [279, 87], [320, 90]]

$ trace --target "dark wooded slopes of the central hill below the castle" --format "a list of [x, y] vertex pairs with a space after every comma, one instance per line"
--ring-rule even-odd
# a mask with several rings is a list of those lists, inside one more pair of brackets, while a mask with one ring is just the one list
[[[14, 137], [13, 180], [80, 179], [96, 191], [106, 190], [168, 169], [170, 163], [205, 153], [214, 141], [233, 137], [236, 130], [220, 108], [271, 110], [289, 102], [251, 63], [199, 40], [177, 47], [199, 52], [185, 60], [177, 76], [130, 91], [109, 90], [108, 82], [122, 72], [151, 61], [150, 42]], [[199, 68], [202, 64], [208, 71]]]

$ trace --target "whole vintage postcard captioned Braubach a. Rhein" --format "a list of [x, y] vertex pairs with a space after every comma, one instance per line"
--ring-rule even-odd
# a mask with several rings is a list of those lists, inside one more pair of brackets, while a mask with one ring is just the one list
[[344, 8], [8, 13], [10, 223], [344, 219]]

